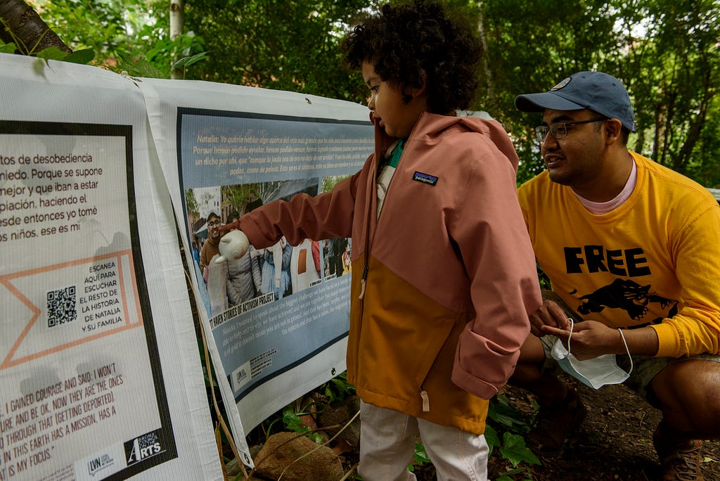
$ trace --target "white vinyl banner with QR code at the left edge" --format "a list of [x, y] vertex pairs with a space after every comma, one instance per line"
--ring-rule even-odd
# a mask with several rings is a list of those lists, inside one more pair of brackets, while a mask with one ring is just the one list
[[222, 479], [140, 89], [0, 54], [0, 480]]

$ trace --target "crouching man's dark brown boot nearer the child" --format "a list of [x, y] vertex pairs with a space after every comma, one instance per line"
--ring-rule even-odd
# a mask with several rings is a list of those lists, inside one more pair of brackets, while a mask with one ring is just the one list
[[540, 408], [534, 426], [526, 436], [528, 444], [537, 454], [557, 455], [562, 451], [565, 439], [580, 427], [587, 416], [588, 410], [580, 402], [577, 392], [568, 386], [564, 401]]

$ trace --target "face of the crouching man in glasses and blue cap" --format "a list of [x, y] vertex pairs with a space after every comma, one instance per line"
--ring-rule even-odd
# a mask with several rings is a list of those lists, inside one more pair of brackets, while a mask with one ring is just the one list
[[[580, 122], [597, 118], [590, 110], [550, 110], [543, 115], [544, 125]], [[546, 135], [541, 154], [550, 179], [558, 184], [582, 187], [597, 181], [603, 165], [603, 135], [601, 122], [567, 127], [567, 136], [556, 139]]]

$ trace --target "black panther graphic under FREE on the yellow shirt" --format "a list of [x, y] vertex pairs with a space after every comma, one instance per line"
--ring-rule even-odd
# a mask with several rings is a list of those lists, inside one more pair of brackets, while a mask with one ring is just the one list
[[[629, 279], [615, 279], [611, 284], [580, 297], [580, 300], [584, 301], [577, 307], [577, 312], [580, 314], [599, 313], [606, 307], [610, 307], [625, 310], [635, 320], [642, 319], [647, 314], [647, 307], [645, 306], [649, 302], [658, 302], [662, 308], [675, 303], [675, 306], [671, 309], [675, 313], [677, 313], [678, 304], [678, 301], [651, 293], [649, 284], [641, 286]], [[672, 316], [672, 312], [669, 315]]]

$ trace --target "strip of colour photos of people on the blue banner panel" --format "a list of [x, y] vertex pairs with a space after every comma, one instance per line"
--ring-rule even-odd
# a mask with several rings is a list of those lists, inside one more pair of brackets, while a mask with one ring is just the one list
[[[194, 268], [202, 274], [201, 290], [207, 300], [208, 317], [214, 318], [235, 306], [240, 306], [236, 310], [243, 313], [250, 306], [282, 299], [320, 284], [323, 279], [350, 272], [350, 242], [346, 238], [305, 239], [297, 246], [282, 238], [271, 248], [258, 250], [251, 246], [241, 259], [216, 262], [220, 256], [218, 243], [224, 234], [220, 226], [239, 220], [240, 212], [251, 212], [276, 199], [288, 200], [300, 192], [313, 197], [318, 189], [328, 192], [345, 177], [324, 177], [322, 187], [320, 179], [311, 178], [186, 190], [187, 222], [193, 226], [192, 258]], [[267, 296], [271, 293], [274, 296]]]

